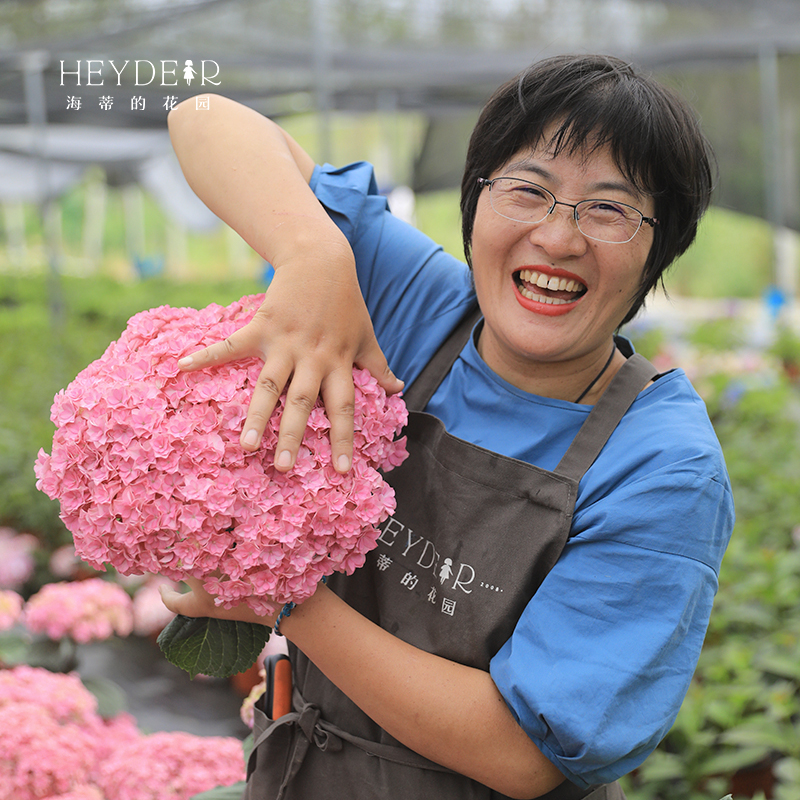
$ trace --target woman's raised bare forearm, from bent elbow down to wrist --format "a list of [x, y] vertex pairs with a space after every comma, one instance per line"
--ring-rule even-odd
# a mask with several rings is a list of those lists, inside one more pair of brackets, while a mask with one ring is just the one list
[[276, 268], [299, 251], [349, 245], [308, 186], [314, 162], [271, 120], [214, 95], [169, 115], [181, 169], [197, 196]]

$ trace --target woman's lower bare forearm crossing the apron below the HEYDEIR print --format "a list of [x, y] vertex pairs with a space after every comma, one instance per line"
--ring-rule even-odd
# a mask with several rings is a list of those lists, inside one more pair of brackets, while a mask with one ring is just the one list
[[403, 642], [324, 587], [281, 631], [369, 717], [426, 758], [511, 797], [538, 797], [563, 780], [487, 672]]

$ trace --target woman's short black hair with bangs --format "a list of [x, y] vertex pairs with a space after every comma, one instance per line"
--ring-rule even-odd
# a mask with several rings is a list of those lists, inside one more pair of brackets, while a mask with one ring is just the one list
[[711, 200], [716, 164], [689, 104], [612, 56], [562, 55], [534, 63], [489, 99], [470, 138], [461, 183], [461, 231], [472, 266], [472, 232], [482, 186], [545, 131], [553, 155], [610, 149], [620, 172], [652, 196], [653, 244], [642, 283], [620, 325], [636, 316], [664, 271], [694, 241]]

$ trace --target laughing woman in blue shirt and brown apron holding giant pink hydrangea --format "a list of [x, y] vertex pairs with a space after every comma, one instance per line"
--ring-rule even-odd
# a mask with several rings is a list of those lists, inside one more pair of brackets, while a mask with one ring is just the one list
[[321, 394], [347, 472], [353, 364], [409, 408], [375, 551], [281, 621], [293, 710], [256, 710], [246, 796], [619, 800], [686, 693], [733, 524], [702, 401], [616, 336], [708, 204], [692, 112], [613, 58], [534, 64], [473, 134], [465, 264], [369, 164], [316, 166], [211, 100], [171, 114], [176, 152], [275, 278], [187, 368], [263, 359], [242, 445], [287, 387], [279, 470]]

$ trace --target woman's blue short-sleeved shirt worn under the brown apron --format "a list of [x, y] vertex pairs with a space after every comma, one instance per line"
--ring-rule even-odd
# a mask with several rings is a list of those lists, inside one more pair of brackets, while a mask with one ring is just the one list
[[[410, 385], [475, 302], [469, 269], [388, 212], [370, 165], [318, 167], [311, 186], [350, 241], [378, 342]], [[552, 470], [591, 407], [507, 383], [471, 338], [425, 410], [454, 436]], [[491, 662], [518, 723], [574, 783], [616, 780], [672, 726], [732, 527], [719, 443], [675, 370], [641, 392], [586, 472], [570, 539]]]

